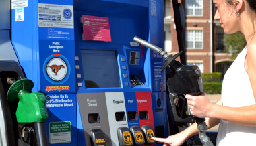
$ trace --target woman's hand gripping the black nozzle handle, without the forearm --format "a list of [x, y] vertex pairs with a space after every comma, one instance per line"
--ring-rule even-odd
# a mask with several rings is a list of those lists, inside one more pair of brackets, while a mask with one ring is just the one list
[[187, 94], [187, 104], [189, 105], [191, 115], [199, 118], [210, 117], [211, 109], [214, 104], [210, 102], [205, 92], [198, 96]]

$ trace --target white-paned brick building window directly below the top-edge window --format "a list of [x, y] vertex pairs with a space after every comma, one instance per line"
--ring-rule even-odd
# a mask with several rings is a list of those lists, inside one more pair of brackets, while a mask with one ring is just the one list
[[187, 30], [186, 31], [186, 48], [203, 48], [203, 31]]

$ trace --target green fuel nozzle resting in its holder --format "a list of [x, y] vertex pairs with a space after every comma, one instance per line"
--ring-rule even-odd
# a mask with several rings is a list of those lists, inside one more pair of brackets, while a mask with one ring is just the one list
[[7, 78], [7, 83], [11, 85], [7, 92], [9, 102], [19, 100], [16, 111], [18, 123], [45, 122], [48, 117], [46, 97], [40, 92], [30, 92], [34, 87], [32, 80]]

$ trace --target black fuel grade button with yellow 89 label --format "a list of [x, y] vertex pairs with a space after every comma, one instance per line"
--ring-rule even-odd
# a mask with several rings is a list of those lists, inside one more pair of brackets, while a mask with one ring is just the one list
[[140, 127], [132, 126], [130, 127], [130, 131], [131, 135], [133, 135], [133, 141], [136, 145], [143, 145], [145, 143], [143, 132]]

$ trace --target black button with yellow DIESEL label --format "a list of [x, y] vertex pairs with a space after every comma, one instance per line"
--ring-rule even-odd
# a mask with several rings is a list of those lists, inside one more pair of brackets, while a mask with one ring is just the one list
[[90, 132], [93, 146], [106, 146], [105, 134], [100, 129], [94, 129]]

